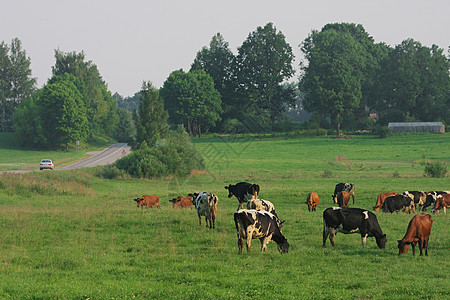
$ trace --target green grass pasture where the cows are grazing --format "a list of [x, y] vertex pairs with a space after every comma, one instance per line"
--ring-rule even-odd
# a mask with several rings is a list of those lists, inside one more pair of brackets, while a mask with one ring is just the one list
[[[91, 169], [0, 175], [0, 298], [450, 298], [448, 214], [433, 215], [428, 257], [411, 249], [398, 256], [409, 214], [377, 213], [384, 250], [374, 238], [362, 249], [358, 234], [322, 248], [322, 212], [338, 182], [355, 184], [350, 206], [364, 209], [385, 191], [449, 190], [448, 177], [423, 177], [422, 165], [450, 162], [449, 134], [195, 143], [207, 170], [186, 178], [104, 180]], [[26, 153], [14, 157], [20, 163]], [[237, 200], [224, 186], [239, 181], [258, 183], [286, 220], [288, 254], [274, 242], [260, 253], [254, 240], [250, 254], [238, 255]], [[219, 196], [216, 229], [198, 226], [194, 210], [172, 209], [169, 199], [193, 191]], [[321, 199], [315, 213], [304, 204], [311, 191]], [[161, 209], [137, 209], [133, 199], [143, 194], [159, 195]]]

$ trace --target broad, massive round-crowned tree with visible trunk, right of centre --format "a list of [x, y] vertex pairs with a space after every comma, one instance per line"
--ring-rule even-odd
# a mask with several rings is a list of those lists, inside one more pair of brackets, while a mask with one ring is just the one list
[[364, 47], [350, 33], [328, 29], [314, 30], [301, 50], [307, 61], [301, 64], [299, 84], [305, 109], [328, 115], [340, 135], [342, 119], [353, 114], [362, 99]]

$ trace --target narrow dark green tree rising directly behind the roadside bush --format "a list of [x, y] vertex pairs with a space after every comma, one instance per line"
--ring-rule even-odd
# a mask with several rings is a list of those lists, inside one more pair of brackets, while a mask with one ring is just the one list
[[167, 134], [167, 112], [159, 92], [150, 82], [144, 82], [140, 91], [136, 130], [137, 142], [153, 145]]

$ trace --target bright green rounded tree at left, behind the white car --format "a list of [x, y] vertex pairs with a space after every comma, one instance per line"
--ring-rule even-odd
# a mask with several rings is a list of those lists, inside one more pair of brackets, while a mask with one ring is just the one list
[[75, 76], [65, 74], [54, 76], [42, 88], [39, 105], [48, 146], [68, 146], [89, 136], [85, 97], [77, 88], [82, 84]]

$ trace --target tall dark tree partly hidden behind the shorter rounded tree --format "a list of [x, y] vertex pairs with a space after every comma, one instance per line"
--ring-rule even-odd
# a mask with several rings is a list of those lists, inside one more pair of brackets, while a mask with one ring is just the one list
[[236, 58], [220, 33], [213, 36], [209, 48], [203, 47], [197, 52], [191, 71], [204, 70], [214, 80], [214, 87], [222, 98], [224, 118], [234, 117], [240, 105], [236, 96]]

